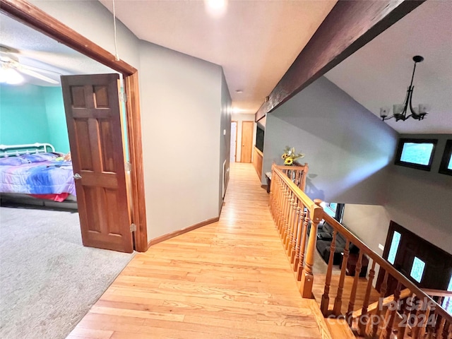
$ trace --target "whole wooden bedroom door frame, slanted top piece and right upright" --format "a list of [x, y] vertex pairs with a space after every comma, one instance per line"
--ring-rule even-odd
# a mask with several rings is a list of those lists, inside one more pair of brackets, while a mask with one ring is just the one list
[[143, 144], [141, 141], [141, 115], [138, 91], [138, 70], [88, 40], [83, 35], [49, 16], [25, 0], [0, 0], [0, 11], [7, 16], [38, 30], [77, 52], [108, 66], [124, 76], [127, 93], [126, 120], [131, 163], [131, 220], [136, 225], [134, 243], [136, 251], [148, 249], [148, 232], [144, 196]]

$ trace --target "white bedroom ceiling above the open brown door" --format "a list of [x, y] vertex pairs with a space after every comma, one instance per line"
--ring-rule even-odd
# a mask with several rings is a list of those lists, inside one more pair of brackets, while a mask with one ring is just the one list
[[[13, 49], [20, 64], [37, 67], [44, 76], [59, 81], [60, 75], [115, 73], [85, 55], [0, 13], [0, 45]], [[14, 51], [15, 50], [15, 51]], [[26, 83], [55, 86], [22, 74]], [[59, 86], [59, 84], [57, 84]]]

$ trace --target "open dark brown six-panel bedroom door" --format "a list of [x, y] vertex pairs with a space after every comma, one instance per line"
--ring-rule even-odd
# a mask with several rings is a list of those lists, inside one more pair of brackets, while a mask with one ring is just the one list
[[61, 76], [83, 245], [131, 253], [119, 74]]

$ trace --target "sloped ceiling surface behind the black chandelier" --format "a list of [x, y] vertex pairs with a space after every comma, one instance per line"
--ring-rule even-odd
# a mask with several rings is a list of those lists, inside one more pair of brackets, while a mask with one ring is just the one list
[[[380, 107], [405, 100], [417, 64], [413, 106], [428, 104], [422, 121], [385, 121], [399, 133], [452, 133], [452, 1], [426, 1], [326, 73], [326, 78], [379, 117]], [[391, 109], [392, 112], [392, 109]], [[391, 113], [392, 114], [392, 113]]]

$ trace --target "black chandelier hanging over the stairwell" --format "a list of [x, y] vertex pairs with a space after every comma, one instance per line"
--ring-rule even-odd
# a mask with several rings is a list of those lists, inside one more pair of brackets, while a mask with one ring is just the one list
[[[420, 55], [416, 55], [412, 57], [412, 60], [415, 61], [415, 67], [412, 69], [411, 83], [407, 90], [407, 96], [405, 97], [405, 101], [403, 104], [393, 105], [393, 115], [388, 117], [389, 111], [391, 107], [381, 107], [380, 108], [380, 117], [383, 121], [396, 118], [396, 121], [403, 120], [405, 121], [409, 117], [416, 120], [422, 120], [427, 115], [427, 106], [424, 104], [420, 104], [418, 106], [412, 107], [412, 91], [415, 86], [412, 85], [412, 80], [415, 78], [416, 64], [418, 62], [422, 62], [424, 60]], [[408, 109], [410, 112], [408, 112]], [[407, 115], [411, 113], [410, 115]]]

